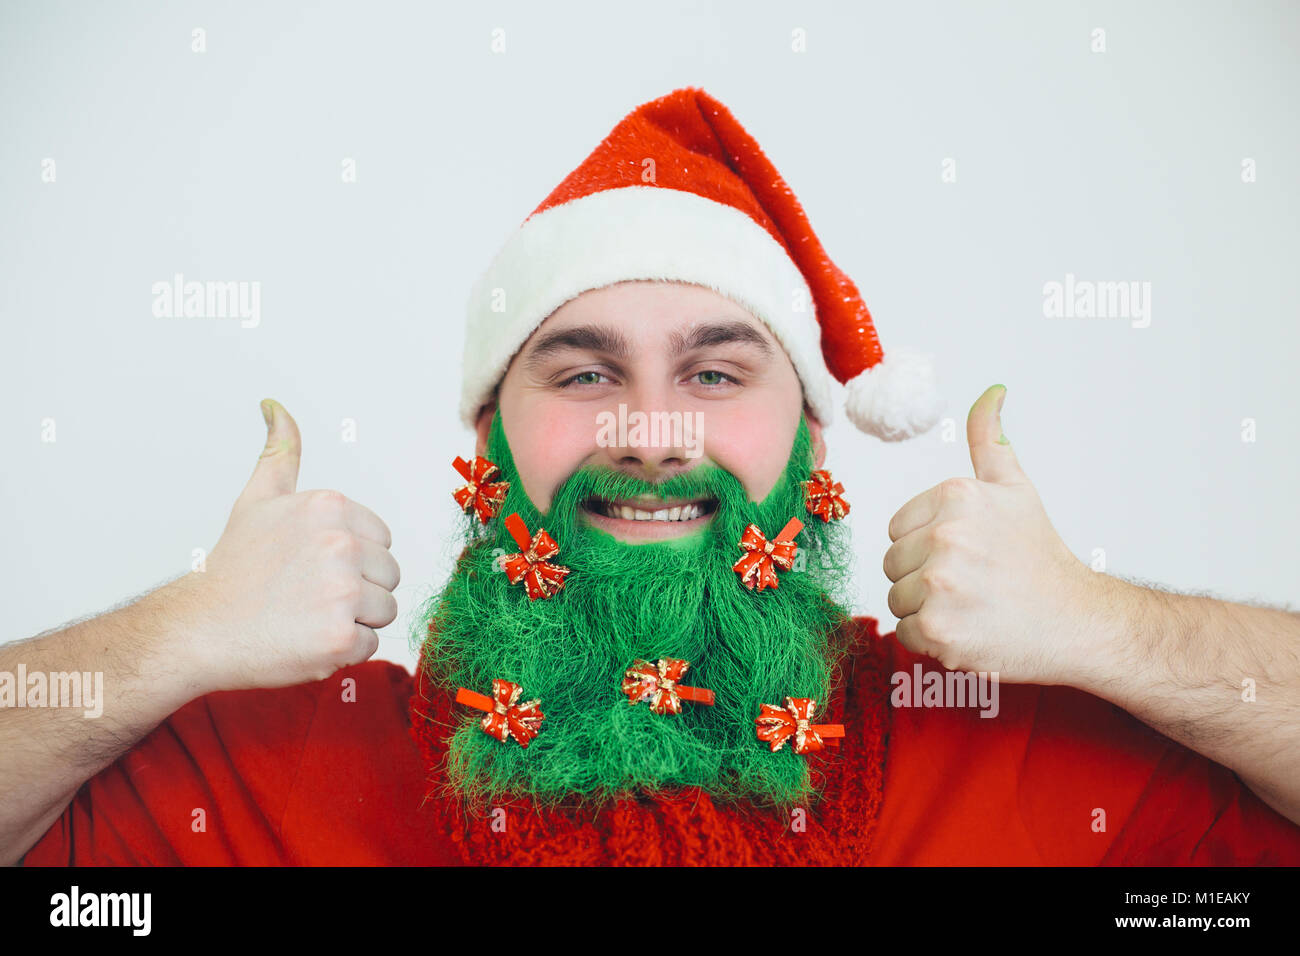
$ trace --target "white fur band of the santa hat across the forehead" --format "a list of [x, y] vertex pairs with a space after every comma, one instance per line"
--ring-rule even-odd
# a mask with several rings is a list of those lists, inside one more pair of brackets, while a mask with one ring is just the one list
[[693, 282], [767, 324], [823, 425], [831, 373], [803, 273], [740, 209], [662, 186], [604, 190], [530, 216], [474, 284], [465, 317], [460, 419], [478, 410], [533, 330], [589, 289], [625, 280]]

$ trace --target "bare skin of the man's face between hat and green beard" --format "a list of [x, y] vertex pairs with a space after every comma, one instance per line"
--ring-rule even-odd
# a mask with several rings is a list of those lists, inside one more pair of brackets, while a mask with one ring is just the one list
[[[762, 501], [786, 467], [803, 405], [794, 367], [763, 323], [710, 289], [680, 282], [619, 282], [571, 299], [515, 355], [498, 402], [524, 490], [542, 512], [581, 467], [659, 483], [707, 460]], [[677, 414], [682, 423], [698, 421], [702, 433], [688, 436], [684, 428], [676, 445], [671, 433], [651, 433], [662, 440], [654, 446], [610, 445], [598, 415], [618, 420], [620, 405], [625, 418]], [[488, 406], [478, 418], [480, 455], [491, 415]], [[822, 467], [826, 446], [812, 418], [809, 431]], [[667, 520], [610, 514], [642, 505], [654, 515], [689, 503], [641, 498], [598, 510], [593, 502], [581, 514], [620, 541], [663, 541], [701, 531], [712, 514], [686, 520], [680, 512], [672, 520], [671, 510]]]

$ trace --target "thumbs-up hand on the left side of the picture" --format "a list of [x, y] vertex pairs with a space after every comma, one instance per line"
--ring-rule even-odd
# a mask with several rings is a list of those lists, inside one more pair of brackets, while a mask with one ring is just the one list
[[339, 492], [295, 490], [298, 425], [272, 399], [263, 415], [266, 447], [205, 570], [181, 579], [203, 692], [321, 680], [370, 657], [398, 614], [387, 525]]

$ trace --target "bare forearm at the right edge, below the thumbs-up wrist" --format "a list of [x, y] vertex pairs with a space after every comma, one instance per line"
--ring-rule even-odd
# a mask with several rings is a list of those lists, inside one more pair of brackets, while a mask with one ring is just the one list
[[1236, 771], [1300, 823], [1300, 615], [1108, 587], [1117, 627], [1083, 689]]

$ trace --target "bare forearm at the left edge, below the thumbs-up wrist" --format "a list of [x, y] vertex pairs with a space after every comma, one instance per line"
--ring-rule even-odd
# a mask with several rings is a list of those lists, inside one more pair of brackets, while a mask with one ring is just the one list
[[17, 862], [82, 783], [204, 692], [179, 652], [186, 592], [181, 579], [0, 648], [13, 692], [0, 696], [0, 864]]

